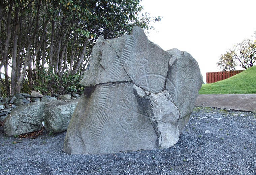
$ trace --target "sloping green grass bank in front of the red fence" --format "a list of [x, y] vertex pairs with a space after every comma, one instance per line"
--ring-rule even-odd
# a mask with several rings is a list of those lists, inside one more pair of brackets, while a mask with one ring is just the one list
[[222, 81], [203, 84], [199, 94], [256, 94], [256, 66]]

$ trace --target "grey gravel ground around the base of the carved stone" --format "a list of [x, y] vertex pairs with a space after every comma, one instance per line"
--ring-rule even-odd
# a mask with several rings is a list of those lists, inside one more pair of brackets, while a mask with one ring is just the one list
[[255, 175], [255, 120], [256, 113], [195, 107], [169, 149], [90, 156], [65, 154], [66, 132], [20, 139], [0, 127], [0, 174]]

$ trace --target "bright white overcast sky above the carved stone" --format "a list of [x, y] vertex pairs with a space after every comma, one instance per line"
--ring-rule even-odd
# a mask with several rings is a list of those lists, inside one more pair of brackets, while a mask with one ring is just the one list
[[151, 23], [149, 40], [164, 50], [190, 53], [204, 82], [206, 72], [220, 71], [221, 54], [256, 31], [256, 0], [143, 0], [141, 5], [150, 16], [163, 17]]

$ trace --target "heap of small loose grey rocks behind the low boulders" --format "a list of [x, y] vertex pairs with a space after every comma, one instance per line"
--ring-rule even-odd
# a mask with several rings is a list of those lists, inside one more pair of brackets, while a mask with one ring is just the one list
[[81, 96], [76, 93], [69, 93], [65, 95], [56, 95], [54, 97], [44, 96], [39, 92], [32, 91], [31, 95], [20, 93], [15, 94], [12, 98], [5, 97], [0, 98], [0, 121], [4, 121], [4, 119], [10, 114], [10, 112], [21, 105], [28, 105], [33, 102], [49, 102], [52, 100], [76, 100]]

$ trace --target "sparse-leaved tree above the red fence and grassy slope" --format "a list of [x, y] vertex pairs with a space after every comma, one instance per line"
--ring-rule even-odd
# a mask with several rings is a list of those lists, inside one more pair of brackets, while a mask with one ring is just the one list
[[247, 69], [256, 62], [256, 40], [244, 40], [234, 45], [232, 50], [222, 55], [217, 63], [223, 70], [235, 70], [235, 66]]

